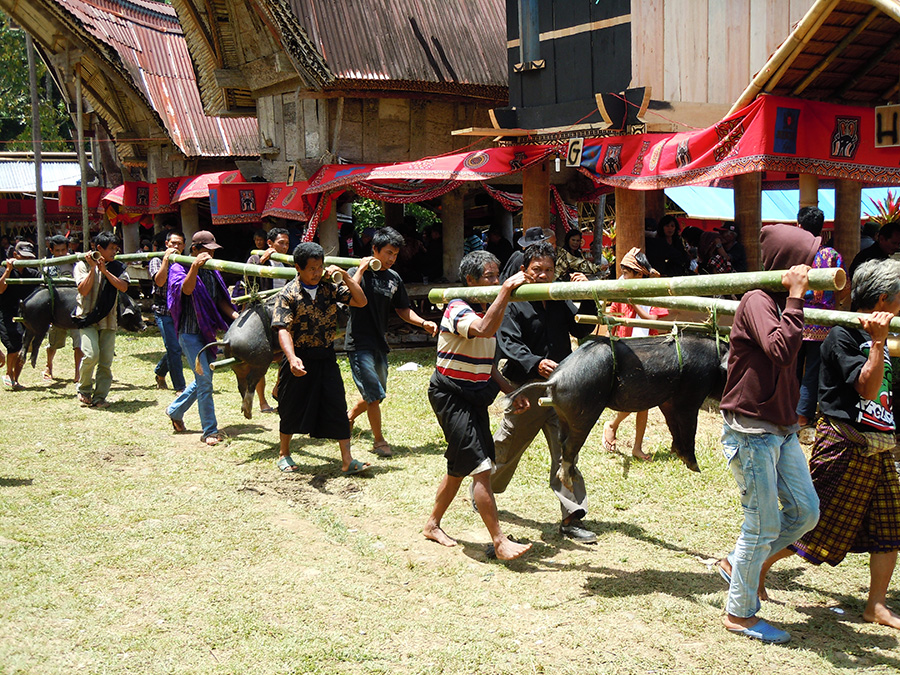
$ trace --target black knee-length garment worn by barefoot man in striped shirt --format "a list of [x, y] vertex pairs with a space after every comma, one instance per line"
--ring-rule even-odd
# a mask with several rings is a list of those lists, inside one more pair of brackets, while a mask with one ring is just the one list
[[468, 476], [485, 459], [494, 460], [494, 439], [488, 406], [500, 387], [490, 380], [484, 387], [468, 389], [434, 371], [428, 383], [428, 400], [447, 439], [447, 474]]

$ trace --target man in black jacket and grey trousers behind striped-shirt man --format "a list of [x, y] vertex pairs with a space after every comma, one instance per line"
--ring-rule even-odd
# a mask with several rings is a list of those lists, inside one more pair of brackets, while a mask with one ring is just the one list
[[[525, 249], [523, 271], [531, 281], [551, 283], [555, 275], [555, 254], [549, 241], [532, 244]], [[587, 277], [581, 272], [572, 272], [572, 281], [587, 281]], [[581, 311], [595, 311], [594, 302], [585, 300]], [[497, 347], [506, 359], [503, 376], [514, 387], [546, 380], [559, 362], [572, 353], [569, 336], [582, 338], [593, 330], [589, 324], [575, 323], [577, 312], [575, 305], [566, 300], [517, 302], [507, 308], [497, 332]], [[587, 490], [581, 472], [573, 467], [571, 490], [557, 476], [562, 445], [559, 418], [554, 408], [541, 407], [535, 399], [528, 410], [516, 414], [512, 403], [507, 403], [500, 428], [494, 433], [496, 460], [491, 488], [495, 494], [506, 490], [519, 460], [539, 431], [544, 432], [550, 448], [550, 489], [562, 509], [560, 534], [583, 544], [593, 544], [597, 535], [581, 521], [587, 514]]]

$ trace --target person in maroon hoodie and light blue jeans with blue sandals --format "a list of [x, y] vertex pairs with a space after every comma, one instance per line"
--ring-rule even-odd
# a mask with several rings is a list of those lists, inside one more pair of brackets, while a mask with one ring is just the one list
[[729, 584], [724, 624], [733, 633], [763, 642], [791, 639], [790, 633], [756, 616], [763, 564], [815, 527], [819, 518], [819, 499], [797, 439], [797, 354], [809, 265], [820, 244], [819, 237], [792, 225], [768, 225], [760, 231], [763, 268], [787, 269], [782, 285], [788, 293], [756, 290], [741, 299], [720, 404], [723, 452], [744, 509], [734, 550], [718, 563]]

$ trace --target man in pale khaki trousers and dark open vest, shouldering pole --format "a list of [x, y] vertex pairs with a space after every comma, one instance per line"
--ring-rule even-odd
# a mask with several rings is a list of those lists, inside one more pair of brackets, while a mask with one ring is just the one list
[[[119, 240], [112, 232], [101, 232], [93, 239], [95, 260], [87, 256], [72, 270], [77, 309], [73, 316], [81, 330], [81, 370], [78, 374], [78, 402], [93, 408], [108, 408], [106, 397], [112, 386], [112, 362], [116, 352], [119, 293], [128, 290], [125, 265], [114, 260]], [[96, 379], [94, 378], [96, 371]]]

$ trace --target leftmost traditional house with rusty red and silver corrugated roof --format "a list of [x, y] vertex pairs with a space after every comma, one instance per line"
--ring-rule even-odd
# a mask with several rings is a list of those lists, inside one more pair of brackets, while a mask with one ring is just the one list
[[[185, 229], [196, 229], [196, 200], [174, 201], [173, 177], [234, 169], [235, 159], [258, 156], [255, 119], [204, 114], [184, 35], [169, 5], [0, 0], [0, 9], [33, 36], [70, 109], [83, 100], [82, 124], [96, 141], [102, 184], [136, 182], [133, 203], [118, 202], [132, 213], [180, 210]], [[96, 201], [88, 197], [92, 206]], [[126, 248], [133, 250], [137, 219], [128, 221]]]

